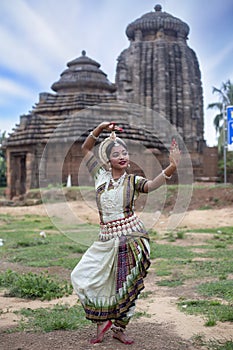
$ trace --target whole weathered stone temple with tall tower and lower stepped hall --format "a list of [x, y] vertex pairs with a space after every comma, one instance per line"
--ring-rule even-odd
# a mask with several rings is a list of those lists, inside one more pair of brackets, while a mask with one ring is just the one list
[[[153, 113], [176, 128], [190, 154], [194, 179], [214, 179], [217, 152], [206, 146], [203, 136], [201, 72], [197, 56], [187, 44], [189, 31], [186, 23], [156, 5], [154, 11], [127, 26], [129, 47], [118, 57], [115, 83], [85, 51], [68, 62], [53, 83], [53, 92], [40, 94], [39, 102], [20, 117], [3, 146], [7, 196], [39, 188], [41, 169], [45, 185], [66, 183], [68, 176], [72, 185], [79, 185], [80, 179], [89, 184], [82, 174], [80, 147], [89, 131], [103, 120], [118, 120], [124, 128], [121, 136], [135, 141], [132, 171], [142, 172], [138, 166], [142, 163], [144, 173], [154, 176], [148, 154], [156, 154], [163, 167], [170, 140], [166, 144], [156, 134]], [[140, 113], [137, 106], [152, 112]], [[140, 123], [134, 123], [134, 118], [141, 118]], [[144, 145], [143, 154], [137, 143]], [[61, 154], [62, 165], [58, 161]]]

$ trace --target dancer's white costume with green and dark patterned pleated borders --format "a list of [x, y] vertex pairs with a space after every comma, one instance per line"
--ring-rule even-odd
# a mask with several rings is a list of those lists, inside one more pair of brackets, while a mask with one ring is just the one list
[[[107, 141], [99, 148], [105, 162]], [[135, 199], [144, 192], [147, 179], [124, 173], [114, 181], [94, 154], [88, 157], [87, 167], [95, 181], [100, 231], [72, 271], [71, 281], [87, 319], [111, 320], [124, 329], [150, 266], [148, 233], [134, 212]]]

